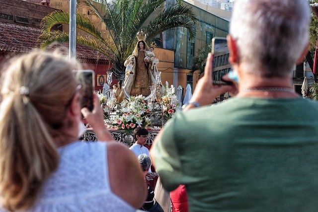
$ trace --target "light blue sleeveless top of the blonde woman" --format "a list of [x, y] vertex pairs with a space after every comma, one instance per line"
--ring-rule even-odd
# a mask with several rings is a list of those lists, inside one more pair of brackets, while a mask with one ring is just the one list
[[106, 143], [76, 141], [59, 152], [59, 167], [30, 212], [136, 211], [111, 191]]

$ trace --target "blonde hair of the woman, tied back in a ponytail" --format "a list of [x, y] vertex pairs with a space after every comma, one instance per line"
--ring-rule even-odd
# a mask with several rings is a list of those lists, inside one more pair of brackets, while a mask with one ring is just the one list
[[67, 105], [76, 92], [74, 66], [61, 56], [33, 52], [14, 58], [0, 89], [0, 204], [30, 209], [58, 167]]

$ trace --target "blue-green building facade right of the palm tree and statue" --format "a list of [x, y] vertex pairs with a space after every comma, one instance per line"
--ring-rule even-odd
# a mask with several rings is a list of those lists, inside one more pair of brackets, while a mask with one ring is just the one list
[[[168, 0], [165, 6], [173, 3], [174, 0]], [[177, 27], [162, 33], [161, 40], [163, 48], [175, 51], [174, 67], [178, 70], [178, 77], [177, 80], [174, 77], [173, 84], [181, 85], [183, 88], [190, 84], [193, 89], [199, 79], [199, 74], [191, 70], [194, 57], [197, 56], [198, 50], [211, 45], [213, 37], [228, 35], [229, 21], [187, 1], [183, 3], [192, 7], [197, 15], [196, 37], [190, 40], [188, 30]]]

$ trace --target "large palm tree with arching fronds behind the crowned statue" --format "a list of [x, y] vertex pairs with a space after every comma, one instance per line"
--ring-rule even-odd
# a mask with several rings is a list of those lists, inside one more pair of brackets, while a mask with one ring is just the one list
[[[115, 76], [122, 80], [124, 61], [133, 52], [137, 43], [136, 34], [140, 30], [147, 33], [146, 42], [174, 27], [185, 27], [190, 39], [196, 35], [196, 15], [191, 7], [180, 1], [163, 9], [165, 0], [77, 0], [78, 6], [88, 6], [106, 25], [103, 36], [86, 17], [77, 14], [77, 28], [91, 37], [77, 36], [77, 43], [97, 50], [108, 56], [114, 63]], [[54, 31], [56, 24], [69, 24], [69, 13], [56, 11], [43, 18], [40, 48], [53, 42], [68, 42], [66, 32]]]

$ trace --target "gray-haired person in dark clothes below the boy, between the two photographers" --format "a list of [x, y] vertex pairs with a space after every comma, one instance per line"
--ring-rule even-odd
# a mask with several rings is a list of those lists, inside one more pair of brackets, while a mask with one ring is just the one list
[[[147, 154], [140, 154], [138, 156], [139, 164], [143, 170], [143, 174], [146, 181], [146, 174], [148, 173], [148, 170], [151, 166], [151, 159], [150, 156]], [[147, 182], [147, 181], [146, 181]], [[141, 208], [141, 210], [149, 211], [149, 212], [163, 212], [163, 209], [159, 205], [159, 203], [155, 200], [155, 194], [153, 189], [150, 187], [150, 185], [147, 183], [147, 189], [148, 189], [148, 197]]]

